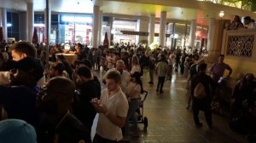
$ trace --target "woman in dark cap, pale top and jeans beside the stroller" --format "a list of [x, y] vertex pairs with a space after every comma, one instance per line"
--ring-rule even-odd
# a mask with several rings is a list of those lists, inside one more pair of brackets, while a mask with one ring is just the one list
[[141, 80], [141, 74], [139, 72], [134, 72], [131, 74], [131, 82], [128, 84], [126, 90], [126, 96], [129, 102], [129, 110], [126, 117], [125, 123], [125, 135], [128, 135], [129, 132], [129, 119], [131, 118], [133, 123], [133, 132], [131, 135], [139, 136], [137, 129], [137, 108], [141, 105], [140, 94], [143, 93], [143, 82]]

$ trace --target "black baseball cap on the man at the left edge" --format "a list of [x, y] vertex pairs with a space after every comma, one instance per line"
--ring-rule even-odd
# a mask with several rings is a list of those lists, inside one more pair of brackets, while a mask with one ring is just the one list
[[25, 57], [16, 61], [14, 67], [20, 71], [28, 72], [36, 81], [44, 76], [44, 68], [41, 61], [32, 57]]

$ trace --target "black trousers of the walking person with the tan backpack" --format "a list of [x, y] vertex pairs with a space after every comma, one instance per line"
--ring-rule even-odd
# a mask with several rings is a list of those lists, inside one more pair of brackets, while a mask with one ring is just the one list
[[208, 126], [212, 126], [212, 110], [211, 110], [210, 100], [198, 100], [196, 98], [193, 98], [192, 107], [193, 107], [195, 125], [200, 124], [198, 114], [199, 114], [199, 111], [203, 111], [205, 112], [205, 117], [206, 117]]

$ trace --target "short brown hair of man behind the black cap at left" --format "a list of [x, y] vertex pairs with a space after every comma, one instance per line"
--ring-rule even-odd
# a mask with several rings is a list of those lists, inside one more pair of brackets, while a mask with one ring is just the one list
[[26, 54], [27, 56], [36, 58], [37, 54], [37, 50], [35, 49], [35, 47], [32, 45], [32, 43], [29, 42], [19, 42], [19, 43], [15, 43], [11, 50], [15, 50], [15, 52], [20, 53], [20, 54]]

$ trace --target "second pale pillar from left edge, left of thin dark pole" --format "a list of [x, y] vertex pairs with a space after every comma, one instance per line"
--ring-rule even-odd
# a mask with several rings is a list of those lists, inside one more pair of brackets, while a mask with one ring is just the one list
[[33, 3], [26, 3], [26, 41], [32, 42], [33, 31], [34, 31]]

